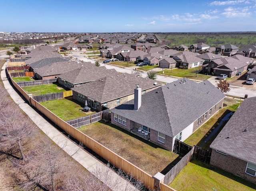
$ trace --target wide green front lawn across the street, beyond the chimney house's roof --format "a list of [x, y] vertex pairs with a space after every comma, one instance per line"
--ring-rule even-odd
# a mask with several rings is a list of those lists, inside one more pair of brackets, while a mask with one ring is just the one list
[[[159, 71], [158, 74], [162, 74], [162, 71]], [[204, 75], [204, 74], [197, 74], [194, 73], [194, 69], [165, 69], [164, 70], [164, 75], [169, 75], [169, 76], [176, 76], [176, 77], [186, 77], [189, 79], [196, 79], [196, 80], [207, 80], [208, 78], [212, 77], [212, 76], [208, 76], [208, 75]], [[197, 77], [196, 77], [197, 76]]]

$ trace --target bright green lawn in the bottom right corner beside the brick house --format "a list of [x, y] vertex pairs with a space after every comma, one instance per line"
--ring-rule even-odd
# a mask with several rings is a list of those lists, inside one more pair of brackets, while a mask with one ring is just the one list
[[177, 191], [255, 191], [256, 185], [231, 173], [192, 160], [170, 183]]

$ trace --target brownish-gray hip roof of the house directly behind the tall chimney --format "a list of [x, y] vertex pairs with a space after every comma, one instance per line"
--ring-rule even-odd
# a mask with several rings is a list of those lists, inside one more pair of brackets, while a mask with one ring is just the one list
[[[143, 90], [162, 84], [158, 83], [157, 85], [154, 85], [155, 82], [156, 81], [152, 79], [136, 77], [128, 73], [125, 73], [125, 75], [116, 73], [115, 75], [107, 75], [96, 81], [74, 87], [72, 90], [103, 103], [133, 94], [136, 84], [139, 84]], [[94, 88], [92, 89], [91, 87]]]

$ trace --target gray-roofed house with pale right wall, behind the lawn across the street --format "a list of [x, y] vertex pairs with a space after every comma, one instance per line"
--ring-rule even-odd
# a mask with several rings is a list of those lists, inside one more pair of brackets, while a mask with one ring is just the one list
[[178, 56], [174, 56], [173, 59], [178, 63], [181, 68], [194, 68], [198, 66], [202, 66], [204, 60], [196, 57], [196, 55], [191, 54], [182, 54]]

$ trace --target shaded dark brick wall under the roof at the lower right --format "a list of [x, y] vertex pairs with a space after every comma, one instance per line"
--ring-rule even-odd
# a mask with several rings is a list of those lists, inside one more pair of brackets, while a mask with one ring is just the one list
[[212, 150], [210, 165], [221, 168], [253, 183], [256, 182], [256, 177], [245, 173], [247, 162], [244, 160], [235, 158], [230, 155], [226, 156], [216, 152], [216, 150]]

